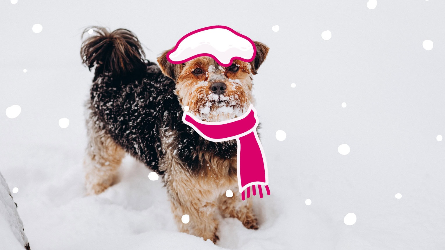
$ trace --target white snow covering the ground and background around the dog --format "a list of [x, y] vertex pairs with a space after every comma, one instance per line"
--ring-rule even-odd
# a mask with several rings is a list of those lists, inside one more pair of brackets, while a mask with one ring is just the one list
[[[445, 141], [436, 139], [445, 136], [444, 2], [379, 0], [372, 10], [368, 0], [165, 2], [0, 3], [0, 110], [22, 109], [15, 119], [0, 114], [0, 172], [19, 189], [32, 250], [445, 246]], [[210, 25], [271, 47], [254, 79], [271, 188], [255, 200], [259, 230], [224, 219], [217, 246], [179, 233], [162, 183], [131, 158], [116, 185], [85, 196], [83, 102], [92, 74], [79, 47], [87, 25], [131, 29], [149, 59]], [[348, 155], [337, 152], [343, 143]], [[347, 213], [354, 225], [345, 225]]]

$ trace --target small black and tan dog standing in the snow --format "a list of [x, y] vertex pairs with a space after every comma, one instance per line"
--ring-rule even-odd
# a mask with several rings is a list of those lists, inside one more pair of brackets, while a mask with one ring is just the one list
[[[172, 64], [166, 50], [157, 65], [144, 59], [140, 41], [127, 29], [94, 26], [85, 29], [82, 39], [85, 35], [81, 58], [90, 71], [95, 68], [86, 103], [87, 193], [99, 194], [112, 185], [128, 153], [162, 176], [181, 232], [216, 242], [218, 214], [258, 229], [251, 199], [242, 201], [238, 192], [236, 141], [203, 139], [182, 122], [182, 115], [188, 107], [208, 122], [241, 116], [255, 104], [252, 76], [269, 48], [254, 41], [255, 59], [234, 60], [229, 67], [211, 57]], [[224, 195], [228, 189], [233, 197]], [[190, 217], [186, 224], [184, 214]]]

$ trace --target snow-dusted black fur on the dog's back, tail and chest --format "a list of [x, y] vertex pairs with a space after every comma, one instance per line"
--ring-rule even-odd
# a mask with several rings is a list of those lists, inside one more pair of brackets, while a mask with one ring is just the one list
[[[191, 173], [201, 173], [203, 152], [223, 159], [236, 155], [235, 140], [210, 142], [182, 122], [183, 111], [174, 94], [174, 81], [153, 62], [145, 60], [144, 67], [139, 65], [144, 53], [133, 33], [124, 29], [112, 33], [104, 28], [95, 30], [99, 35], [85, 40], [81, 49], [84, 64], [90, 69], [96, 65], [88, 106], [102, 128], [125, 151], [158, 174], [164, 174], [158, 165], [165, 156], [160, 133], [166, 129], [177, 132], [172, 150]], [[125, 50], [119, 50], [121, 47]], [[134, 65], [117, 63], [121, 61]]]

